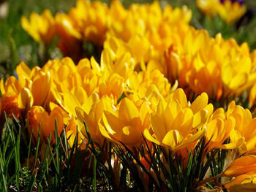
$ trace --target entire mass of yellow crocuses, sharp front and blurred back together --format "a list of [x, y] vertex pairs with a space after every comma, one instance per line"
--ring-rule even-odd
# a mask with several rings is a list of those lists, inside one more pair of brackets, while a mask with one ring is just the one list
[[[219, 4], [241, 6], [233, 1]], [[207, 12], [206, 8], [202, 9]], [[155, 185], [163, 183], [167, 188], [174, 182], [163, 176], [174, 174], [167, 162], [178, 159], [186, 167], [191, 154], [199, 150], [196, 166], [202, 170], [215, 163], [218, 152], [227, 153], [224, 158], [232, 163], [226, 161], [223, 169], [211, 166], [219, 169], [215, 175], [212, 171], [212, 177], [207, 177], [207, 169], [197, 176], [194, 172], [193, 187], [200, 189], [219, 177], [232, 178], [221, 183], [230, 191], [235, 184], [255, 182], [256, 118], [235, 101], [228, 107], [219, 102], [222, 106], [216, 108], [214, 101], [240, 96], [255, 84], [256, 52], [251, 53], [246, 42], [238, 45], [235, 39], [210, 37], [207, 31], [189, 26], [191, 14], [187, 7], [167, 5], [162, 10], [157, 1], [124, 9], [119, 1], [108, 7], [78, 0], [68, 14], [53, 17], [46, 10], [42, 15], [33, 12], [30, 21], [22, 18], [23, 28], [38, 42], [48, 45], [58, 34], [59, 47], [72, 58], [49, 60], [33, 69], [21, 62], [18, 78], [1, 79], [1, 122], [4, 112], [8, 118], [26, 119], [34, 142], [40, 127], [45, 142], [57, 128], [58, 134], [66, 132], [70, 146], [78, 135], [81, 148], [90, 139], [98, 148], [106, 142], [123, 147], [141, 162], [147, 160], [141, 164], [146, 164]], [[99, 61], [91, 57], [75, 64], [83, 55], [83, 41], [102, 46]], [[256, 100], [255, 85], [251, 105]], [[156, 146], [163, 164], [157, 168]]]

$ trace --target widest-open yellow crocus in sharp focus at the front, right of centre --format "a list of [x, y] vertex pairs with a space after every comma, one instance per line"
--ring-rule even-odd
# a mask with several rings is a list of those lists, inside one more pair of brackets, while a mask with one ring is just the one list
[[184, 91], [177, 89], [168, 102], [159, 101], [157, 112], [151, 115], [152, 130], [144, 130], [146, 139], [172, 151], [197, 141], [206, 133], [202, 126], [213, 110], [207, 103], [208, 96], [203, 93], [189, 106]]

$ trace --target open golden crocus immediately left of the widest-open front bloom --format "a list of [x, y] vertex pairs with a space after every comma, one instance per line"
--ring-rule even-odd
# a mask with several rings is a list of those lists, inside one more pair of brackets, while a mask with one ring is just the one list
[[104, 126], [99, 125], [99, 130], [106, 138], [123, 143], [131, 150], [140, 147], [143, 142], [142, 133], [145, 128], [149, 128], [149, 108], [143, 101], [140, 106], [129, 99], [120, 101], [118, 110], [105, 111], [102, 117]]

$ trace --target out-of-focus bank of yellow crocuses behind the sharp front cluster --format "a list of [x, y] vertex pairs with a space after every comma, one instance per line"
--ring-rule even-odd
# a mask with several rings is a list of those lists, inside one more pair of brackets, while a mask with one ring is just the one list
[[[238, 4], [219, 2], [231, 3]], [[252, 87], [256, 81], [256, 62], [247, 43], [238, 45], [234, 39], [223, 39], [221, 34], [210, 37], [207, 31], [189, 26], [191, 15], [187, 7], [173, 9], [167, 5], [162, 11], [157, 1], [132, 4], [129, 9], [124, 9], [119, 1], [113, 1], [110, 7], [99, 1], [78, 1], [67, 15], [57, 13], [53, 18], [47, 10], [42, 15], [33, 12], [30, 23], [26, 18], [22, 23], [34, 39], [45, 44], [53, 34], [58, 34], [59, 47], [74, 61], [83, 57], [83, 41], [89, 41], [103, 48], [105, 59], [121, 61], [129, 53], [132, 69], [158, 69], [171, 83], [178, 80], [186, 93], [206, 92], [211, 99], [218, 100], [239, 96]], [[40, 23], [46, 26], [44, 30]], [[130, 74], [116, 66], [112, 68], [119, 74], [126, 72], [121, 74], [125, 77]]]

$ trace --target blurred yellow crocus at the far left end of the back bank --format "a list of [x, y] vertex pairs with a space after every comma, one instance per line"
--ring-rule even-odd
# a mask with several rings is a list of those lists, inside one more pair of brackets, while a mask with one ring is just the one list
[[31, 12], [29, 20], [22, 17], [21, 25], [35, 41], [43, 41], [46, 45], [50, 44], [56, 34], [55, 21], [48, 9], [45, 9], [41, 15]]

